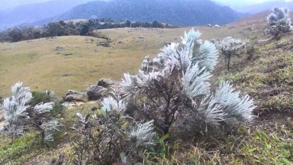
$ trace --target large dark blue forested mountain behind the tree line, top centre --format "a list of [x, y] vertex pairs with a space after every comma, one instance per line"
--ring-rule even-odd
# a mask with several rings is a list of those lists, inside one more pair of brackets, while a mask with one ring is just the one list
[[62, 15], [36, 23], [89, 19], [93, 15], [117, 21], [157, 20], [174, 25], [226, 24], [246, 16], [210, 0], [110, 0], [81, 4]]

